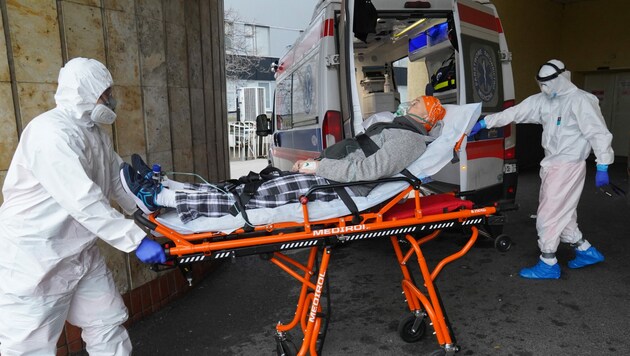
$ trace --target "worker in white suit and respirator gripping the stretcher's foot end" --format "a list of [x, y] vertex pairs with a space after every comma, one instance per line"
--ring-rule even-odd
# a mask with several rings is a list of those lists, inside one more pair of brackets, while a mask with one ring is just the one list
[[99, 124], [116, 118], [112, 77], [103, 64], [75, 58], [59, 72], [57, 107], [24, 129], [0, 207], [0, 354], [55, 355], [67, 320], [83, 329], [90, 355], [128, 355], [127, 309], [96, 245], [164, 252], [126, 211], [134, 201], [119, 180], [121, 158]]

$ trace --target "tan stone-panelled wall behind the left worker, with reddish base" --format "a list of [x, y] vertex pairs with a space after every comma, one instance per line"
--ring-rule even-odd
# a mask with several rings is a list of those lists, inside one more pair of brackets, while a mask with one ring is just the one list
[[[229, 176], [222, 0], [3, 0], [0, 9], [0, 184], [22, 129], [55, 106], [59, 69], [78, 56], [112, 73], [119, 105], [108, 130], [123, 159]], [[121, 293], [156, 277], [102, 249]]]

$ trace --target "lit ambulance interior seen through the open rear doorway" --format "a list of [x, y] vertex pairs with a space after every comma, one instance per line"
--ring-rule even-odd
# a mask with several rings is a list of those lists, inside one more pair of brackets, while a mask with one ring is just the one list
[[[432, 94], [443, 104], [457, 103], [453, 86], [432, 90], [431, 76], [452, 62], [446, 16], [418, 12], [381, 13], [375, 33], [353, 39], [356, 88], [365, 120], [374, 113], [395, 112], [401, 102]], [[405, 80], [406, 79], [406, 80]]]

